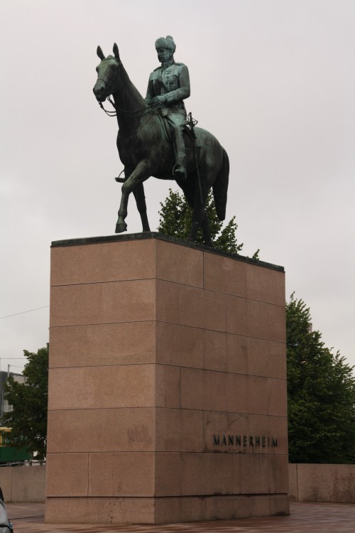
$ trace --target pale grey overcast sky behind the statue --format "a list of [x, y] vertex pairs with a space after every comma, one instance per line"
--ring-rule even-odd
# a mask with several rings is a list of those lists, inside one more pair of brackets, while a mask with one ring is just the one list
[[[242, 254], [283, 265], [286, 296], [355, 365], [354, 28], [354, 0], [0, 0], [0, 316], [16, 315], [1, 370], [48, 342], [50, 243], [114, 233], [123, 166], [92, 93], [97, 45], [119, 45], [145, 95], [165, 35], [187, 112], [229, 154]], [[169, 187], [145, 184], [152, 230]], [[133, 200], [127, 222], [141, 231]]]

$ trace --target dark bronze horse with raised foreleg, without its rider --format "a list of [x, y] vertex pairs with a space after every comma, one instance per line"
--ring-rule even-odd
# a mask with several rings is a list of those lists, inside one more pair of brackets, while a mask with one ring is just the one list
[[[119, 132], [117, 149], [124, 164], [126, 179], [122, 185], [119, 218], [116, 233], [127, 230], [125, 222], [129, 195], [136, 198], [141, 215], [143, 232], [150, 231], [143, 182], [150, 176], [174, 180], [174, 146], [168, 138], [158, 107], [149, 107], [129, 79], [119, 58], [119, 49], [114, 44], [114, 56], [105, 58], [97, 47], [101, 63], [97, 66], [97, 82], [94, 95], [102, 103], [112, 95], [116, 109]], [[194, 128], [195, 140], [185, 135], [187, 179], [176, 178], [187, 203], [192, 207], [192, 227], [187, 239], [195, 240], [202, 227], [204, 242], [211, 244], [207, 215], [204, 210], [210, 188], [219, 220], [226, 215], [226, 196], [229, 181], [229, 158], [219, 141], [202, 128]], [[190, 137], [190, 139], [188, 139]], [[190, 146], [189, 146], [190, 145]]]

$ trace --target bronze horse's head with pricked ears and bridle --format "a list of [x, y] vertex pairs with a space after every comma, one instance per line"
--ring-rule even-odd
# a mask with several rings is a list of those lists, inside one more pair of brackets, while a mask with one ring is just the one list
[[97, 47], [97, 55], [101, 59], [101, 63], [97, 65], [97, 82], [94, 85], [94, 95], [98, 102], [104, 102], [109, 95], [114, 92], [114, 87], [117, 80], [117, 73], [121, 60], [119, 58], [119, 48], [114, 43], [114, 56], [108, 55], [105, 58], [102, 49]]

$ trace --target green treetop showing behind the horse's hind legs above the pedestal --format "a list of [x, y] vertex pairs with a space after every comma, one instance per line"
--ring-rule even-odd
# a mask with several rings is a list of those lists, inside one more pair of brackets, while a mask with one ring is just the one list
[[[185, 198], [178, 191], [174, 193], [170, 189], [168, 198], [165, 199], [164, 203], [160, 202], [160, 206], [158, 232], [170, 235], [170, 237], [186, 239], [192, 224], [192, 209]], [[236, 225], [236, 217], [231, 218], [228, 224], [222, 227], [223, 222], [217, 217], [212, 193], [209, 193], [207, 199], [206, 212], [213, 246], [224, 250], [224, 252], [239, 254], [243, 248], [243, 243], [238, 244], [236, 242], [236, 229], [238, 227]], [[197, 242], [202, 244], [204, 242], [201, 229], [197, 235]]]

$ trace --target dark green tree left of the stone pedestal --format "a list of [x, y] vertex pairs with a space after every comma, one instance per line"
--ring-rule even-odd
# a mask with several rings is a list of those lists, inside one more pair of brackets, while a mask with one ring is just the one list
[[23, 350], [28, 359], [23, 370], [26, 382], [10, 376], [4, 395], [13, 407], [3, 416], [3, 424], [12, 428], [11, 446], [37, 452], [39, 460], [45, 458], [47, 446], [48, 351], [48, 345], [37, 353]]

